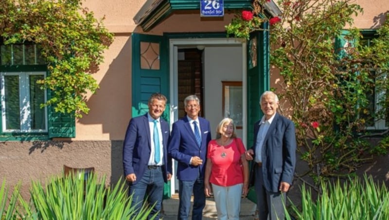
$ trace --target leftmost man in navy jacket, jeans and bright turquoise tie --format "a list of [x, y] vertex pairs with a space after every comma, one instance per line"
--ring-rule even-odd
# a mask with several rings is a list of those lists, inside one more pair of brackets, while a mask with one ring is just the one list
[[172, 177], [172, 160], [167, 154], [170, 128], [160, 116], [165, 110], [166, 97], [151, 95], [149, 111], [134, 117], [128, 124], [124, 138], [123, 166], [125, 179], [130, 183], [132, 206], [139, 212], [147, 193], [148, 202], [155, 204], [150, 217], [161, 209], [163, 184]]

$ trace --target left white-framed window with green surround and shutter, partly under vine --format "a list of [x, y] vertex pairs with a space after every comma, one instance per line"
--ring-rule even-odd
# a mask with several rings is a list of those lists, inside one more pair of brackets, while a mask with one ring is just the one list
[[38, 45], [0, 44], [0, 140], [74, 137], [74, 116], [41, 108], [48, 93], [38, 84], [46, 77]]

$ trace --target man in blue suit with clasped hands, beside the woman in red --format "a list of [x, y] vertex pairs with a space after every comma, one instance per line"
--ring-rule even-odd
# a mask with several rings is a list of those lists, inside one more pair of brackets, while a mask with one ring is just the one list
[[211, 127], [208, 120], [198, 117], [200, 100], [197, 96], [186, 97], [184, 106], [187, 115], [173, 124], [168, 147], [169, 155], [178, 162], [178, 220], [189, 218], [192, 192], [192, 219], [201, 220], [205, 207], [204, 171]]

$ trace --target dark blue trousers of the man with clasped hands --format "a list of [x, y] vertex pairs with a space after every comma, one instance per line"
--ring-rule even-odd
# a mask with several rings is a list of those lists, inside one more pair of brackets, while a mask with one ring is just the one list
[[187, 220], [191, 209], [191, 197], [193, 192], [192, 220], [201, 220], [205, 207], [204, 178], [197, 176], [193, 181], [179, 181], [179, 206], [178, 220]]

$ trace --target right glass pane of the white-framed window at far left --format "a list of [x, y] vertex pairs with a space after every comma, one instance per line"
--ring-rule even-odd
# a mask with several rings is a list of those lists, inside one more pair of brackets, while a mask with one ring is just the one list
[[30, 75], [30, 103], [31, 103], [31, 129], [45, 129], [45, 109], [40, 104], [45, 103], [44, 90], [40, 89], [37, 80], [42, 80], [43, 75]]

